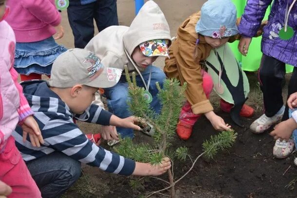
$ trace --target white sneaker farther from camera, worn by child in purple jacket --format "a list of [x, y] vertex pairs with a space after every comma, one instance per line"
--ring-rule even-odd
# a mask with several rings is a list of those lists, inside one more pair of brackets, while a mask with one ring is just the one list
[[270, 118], [267, 117], [265, 114], [261, 115], [260, 118], [258, 118], [251, 124], [250, 129], [252, 130], [253, 133], [264, 132], [270, 126], [281, 121], [284, 111], [285, 111], [285, 108], [283, 106], [282, 108], [279, 109], [277, 114], [275, 114], [274, 116], [272, 116]]

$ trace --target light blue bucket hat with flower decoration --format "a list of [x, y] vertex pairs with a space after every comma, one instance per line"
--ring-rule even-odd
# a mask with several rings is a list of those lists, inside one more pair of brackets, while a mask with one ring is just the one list
[[201, 8], [201, 18], [195, 30], [203, 36], [223, 38], [239, 33], [237, 11], [231, 0], [207, 0]]

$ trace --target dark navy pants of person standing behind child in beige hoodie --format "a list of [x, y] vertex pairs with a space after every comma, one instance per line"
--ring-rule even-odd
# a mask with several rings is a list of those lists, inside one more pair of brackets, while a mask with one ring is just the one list
[[99, 32], [111, 25], [118, 25], [116, 0], [97, 0], [86, 5], [70, 4], [67, 13], [75, 48], [85, 48], [93, 38], [93, 19]]

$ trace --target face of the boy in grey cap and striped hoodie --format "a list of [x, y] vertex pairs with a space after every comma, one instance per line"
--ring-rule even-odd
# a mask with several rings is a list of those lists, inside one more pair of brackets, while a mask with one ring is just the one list
[[95, 92], [97, 90], [98, 88], [83, 85], [80, 90], [77, 90], [78, 92], [73, 98], [71, 107], [69, 105], [69, 108], [76, 114], [82, 114], [91, 106], [93, 100], [95, 100]]

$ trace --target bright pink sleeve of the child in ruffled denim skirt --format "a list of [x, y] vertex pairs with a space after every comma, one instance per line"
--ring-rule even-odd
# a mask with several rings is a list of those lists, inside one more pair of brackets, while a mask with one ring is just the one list
[[21, 0], [21, 4], [35, 17], [47, 24], [57, 26], [61, 22], [61, 15], [53, 0]]

